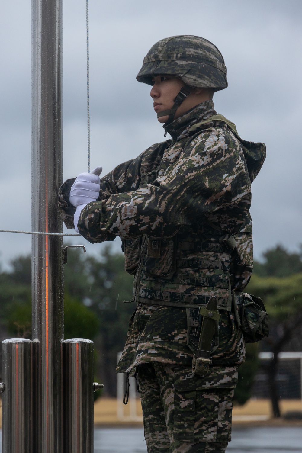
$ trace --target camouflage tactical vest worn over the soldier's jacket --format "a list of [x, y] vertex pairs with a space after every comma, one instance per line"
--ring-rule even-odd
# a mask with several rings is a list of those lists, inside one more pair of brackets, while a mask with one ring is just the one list
[[[221, 115], [201, 121], [192, 126], [191, 130], [196, 128], [199, 135], [203, 123], [210, 127], [213, 125], [225, 127], [227, 124], [240, 140], [243, 149], [244, 145], [249, 146], [249, 152], [253, 151], [253, 147], [256, 149], [257, 145], [262, 145], [241, 140], [234, 123]], [[193, 138], [194, 135], [189, 141], [191, 142]], [[176, 142], [170, 146], [170, 150], [173, 146], [176, 149], [176, 159], [186, 141]], [[156, 171], [144, 175], [140, 187], [146, 183], [153, 183], [158, 175], [163, 174], [163, 170], [163, 166], [159, 164]], [[254, 179], [252, 175], [250, 177]], [[125, 251], [125, 270], [134, 275], [132, 301], [196, 308], [206, 306], [208, 300], [216, 296], [218, 308], [230, 311], [232, 303], [230, 275], [234, 274], [234, 269], [231, 268], [232, 262], [238, 258], [238, 250], [232, 251], [232, 247], [225, 243], [225, 233], [218, 226], [215, 227], [211, 222], [205, 221], [202, 225], [181, 227], [175, 231], [173, 237], [159, 240], [144, 235], [125, 240], [122, 246]], [[235, 239], [237, 245], [240, 241], [244, 243], [243, 246], [241, 244], [241, 251], [244, 250], [246, 253], [244, 258], [240, 256], [240, 260], [244, 262], [247, 273], [251, 275], [252, 240], [249, 215]]]

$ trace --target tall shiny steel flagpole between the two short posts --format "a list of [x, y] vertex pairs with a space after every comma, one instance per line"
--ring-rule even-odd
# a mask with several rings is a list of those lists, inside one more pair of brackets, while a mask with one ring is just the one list
[[[32, 0], [32, 231], [62, 232], [62, 0]], [[32, 236], [34, 453], [62, 450], [62, 237]]]

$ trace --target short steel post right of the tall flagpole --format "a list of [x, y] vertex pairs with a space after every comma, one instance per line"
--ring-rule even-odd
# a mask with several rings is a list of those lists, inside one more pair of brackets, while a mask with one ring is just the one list
[[93, 453], [93, 342], [64, 341], [64, 453]]

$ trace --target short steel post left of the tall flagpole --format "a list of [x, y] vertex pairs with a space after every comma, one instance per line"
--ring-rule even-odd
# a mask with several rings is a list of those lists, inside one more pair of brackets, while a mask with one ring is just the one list
[[32, 453], [33, 342], [2, 342], [2, 452]]

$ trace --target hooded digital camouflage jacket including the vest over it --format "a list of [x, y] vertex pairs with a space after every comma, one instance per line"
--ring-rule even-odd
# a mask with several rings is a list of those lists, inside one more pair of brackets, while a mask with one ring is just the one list
[[[154, 360], [192, 362], [197, 308], [216, 296], [222, 321], [212, 357], [215, 377], [207, 375], [204, 385], [230, 387], [244, 360], [230, 291], [242, 291], [252, 272], [251, 182], [264, 162], [265, 145], [240, 139], [212, 101], [167, 130], [172, 140], [152, 145], [101, 178], [100, 197], [82, 210], [78, 229], [93, 243], [120, 236], [125, 270], [134, 275], [138, 307], [117, 371], [134, 372]], [[67, 180], [59, 194], [67, 228], [74, 227], [73, 182]], [[233, 251], [220, 241], [226, 233], [235, 235]]]

